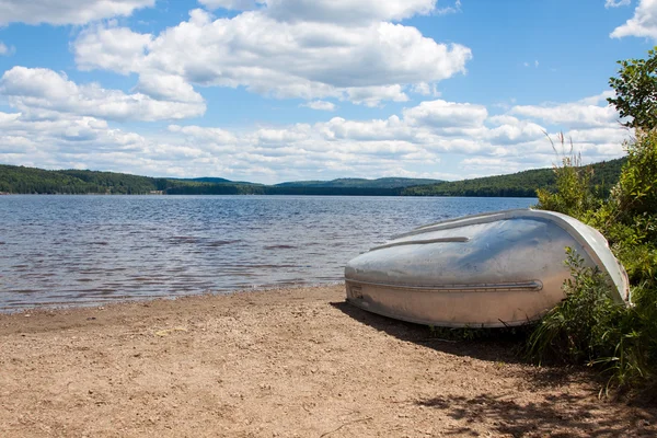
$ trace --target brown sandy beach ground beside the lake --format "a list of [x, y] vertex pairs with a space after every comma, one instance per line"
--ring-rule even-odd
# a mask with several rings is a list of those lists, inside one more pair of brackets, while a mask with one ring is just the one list
[[0, 437], [657, 436], [586, 370], [345, 303], [343, 286], [0, 315]]

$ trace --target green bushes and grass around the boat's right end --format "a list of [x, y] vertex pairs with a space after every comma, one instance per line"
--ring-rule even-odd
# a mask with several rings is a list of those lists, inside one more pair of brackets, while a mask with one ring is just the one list
[[[657, 388], [657, 131], [626, 145], [627, 161], [608, 198], [596, 197], [576, 161], [557, 169], [560, 191], [539, 193], [540, 208], [565, 212], [598, 228], [627, 270], [632, 306], [609, 298], [600, 273], [568, 253], [573, 278], [566, 298], [530, 337], [530, 356], [598, 367], [622, 389]], [[644, 392], [645, 392], [644, 391]]]

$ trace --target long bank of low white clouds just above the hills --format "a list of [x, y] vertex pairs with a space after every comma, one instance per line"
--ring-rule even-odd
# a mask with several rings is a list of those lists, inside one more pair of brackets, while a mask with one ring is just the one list
[[[604, 104], [601, 96], [586, 101]], [[607, 111], [580, 101], [489, 115], [482, 105], [436, 100], [388, 118], [332, 117], [313, 125], [240, 130], [172, 124], [166, 132], [149, 135], [113, 128], [95, 116], [43, 116], [30, 108], [0, 113], [0, 162], [263, 183], [355, 175], [473, 177], [550, 166], [558, 157], [545, 132], [554, 137], [562, 129], [589, 162], [620, 157], [631, 132], [615, 116], [587, 110], [595, 116], [580, 117], [589, 106]], [[586, 123], [554, 124], [568, 117]], [[446, 153], [450, 164], [441, 164]]]

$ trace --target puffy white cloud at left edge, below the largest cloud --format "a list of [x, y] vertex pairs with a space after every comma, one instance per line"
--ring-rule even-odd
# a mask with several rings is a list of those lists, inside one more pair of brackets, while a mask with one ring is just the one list
[[[161, 82], [165, 83], [166, 79]], [[106, 90], [97, 83], [78, 85], [64, 73], [49, 69], [13, 67], [0, 78], [0, 94], [9, 97], [12, 106], [22, 112], [56, 112], [115, 120], [158, 120], [185, 118], [205, 112], [203, 97], [186, 84], [173, 81], [170, 88], [161, 87], [162, 95], [175, 99], [160, 101], [143, 93], [125, 94]], [[178, 87], [180, 94], [171, 90]]]

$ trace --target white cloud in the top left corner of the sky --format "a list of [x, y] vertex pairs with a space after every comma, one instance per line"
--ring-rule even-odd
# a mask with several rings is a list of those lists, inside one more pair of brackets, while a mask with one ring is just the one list
[[154, 4], [155, 0], [0, 0], [0, 25], [85, 24], [112, 16], [130, 15], [137, 9]]

